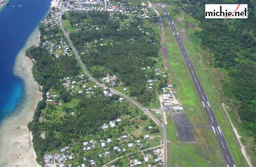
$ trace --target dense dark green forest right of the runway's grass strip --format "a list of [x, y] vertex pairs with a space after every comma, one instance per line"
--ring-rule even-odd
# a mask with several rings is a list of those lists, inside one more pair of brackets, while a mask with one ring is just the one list
[[230, 81], [225, 81], [228, 96], [237, 99], [242, 127], [256, 137], [256, 12], [255, 2], [235, 1], [248, 4], [248, 19], [205, 19], [205, 4], [229, 4], [230, 1], [181, 1], [185, 11], [200, 20], [203, 31], [197, 33], [201, 45], [212, 54], [215, 67], [229, 71]]

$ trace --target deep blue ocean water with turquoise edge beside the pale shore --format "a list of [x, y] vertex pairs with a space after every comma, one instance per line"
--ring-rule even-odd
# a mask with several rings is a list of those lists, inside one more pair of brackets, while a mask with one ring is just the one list
[[21, 102], [24, 85], [14, 75], [14, 62], [50, 3], [50, 0], [10, 0], [0, 12], [0, 122]]

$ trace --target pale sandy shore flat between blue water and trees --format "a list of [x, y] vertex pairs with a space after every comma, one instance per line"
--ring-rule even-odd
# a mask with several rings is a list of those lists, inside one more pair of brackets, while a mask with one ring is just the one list
[[36, 29], [30, 35], [15, 61], [14, 73], [23, 79], [24, 93], [15, 113], [6, 117], [0, 124], [0, 166], [39, 166], [27, 125], [32, 120], [42, 95], [32, 75], [32, 61], [25, 57], [26, 49], [39, 44], [38, 34]]

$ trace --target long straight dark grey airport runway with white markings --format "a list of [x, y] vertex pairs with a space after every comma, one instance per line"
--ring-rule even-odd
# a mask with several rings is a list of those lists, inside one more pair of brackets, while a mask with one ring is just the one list
[[161, 8], [164, 10], [165, 16], [166, 16], [166, 18], [169, 22], [170, 27], [171, 27], [171, 31], [172, 31], [174, 37], [177, 40], [177, 43], [179, 45], [179, 48], [180, 48], [181, 53], [183, 55], [183, 58], [185, 60], [185, 64], [187, 66], [187, 69], [190, 73], [190, 76], [191, 76], [193, 82], [194, 82], [194, 85], [196, 86], [196, 89], [197, 89], [197, 92], [199, 94], [202, 106], [203, 106], [203, 108], [204, 108], [204, 110], [207, 114], [208, 125], [211, 126], [212, 131], [213, 131], [215, 137], [217, 138], [217, 140], [219, 142], [219, 146], [220, 146], [221, 151], [223, 152], [225, 162], [226, 162], [227, 166], [235, 166], [234, 159], [233, 159], [233, 157], [231, 155], [231, 152], [230, 152], [230, 149], [228, 148], [227, 143], [225, 141], [223, 131], [220, 129], [220, 126], [217, 122], [217, 119], [215, 117], [215, 114], [213, 112], [211, 104], [207, 99], [207, 96], [205, 94], [205, 91], [204, 91], [203, 87], [201, 86], [200, 80], [198, 78], [196, 70], [193, 67], [193, 64], [190, 60], [190, 57], [188, 56], [188, 54], [187, 54], [187, 52], [184, 48], [184, 45], [181, 43], [179, 34], [178, 34], [178, 32], [176, 30], [176, 27], [175, 27], [175, 25], [174, 25], [174, 23], [173, 23], [173, 21], [170, 17], [170, 14], [168, 13], [168, 11], [167, 11], [167, 9], [165, 8], [164, 5], [161, 5]]

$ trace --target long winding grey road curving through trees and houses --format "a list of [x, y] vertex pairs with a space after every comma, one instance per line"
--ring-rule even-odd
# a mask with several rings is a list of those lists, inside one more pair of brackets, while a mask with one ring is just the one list
[[[66, 10], [66, 9], [65, 9], [65, 10]], [[62, 15], [65, 13], [65, 10], [62, 12]], [[61, 16], [62, 16], [62, 15], [61, 15]], [[62, 31], [63, 31], [63, 33], [64, 33], [64, 36], [65, 36], [65, 38], [68, 40], [68, 42], [69, 42], [69, 44], [70, 44], [70, 46], [71, 46], [73, 52], [75, 53], [75, 55], [76, 55], [76, 57], [77, 57], [77, 59], [78, 59], [78, 62], [79, 62], [79, 64], [80, 64], [80, 66], [82, 67], [84, 73], [85, 73], [92, 81], [94, 81], [95, 83], [97, 83], [97, 85], [99, 85], [99, 86], [101, 86], [101, 87], [103, 87], [103, 88], [105, 88], [105, 89], [109, 89], [112, 93], [118, 94], [118, 95], [122, 96], [124, 99], [126, 99], [126, 100], [132, 102], [134, 105], [136, 105], [137, 107], [139, 107], [140, 109], [142, 109], [142, 110], [143, 110], [148, 116], [150, 116], [151, 119], [152, 119], [154, 122], [156, 122], [156, 124], [161, 128], [161, 131], [163, 132], [163, 145], [164, 145], [164, 154], [163, 154], [164, 157], [163, 157], [163, 159], [164, 159], [164, 166], [167, 166], [167, 138], [166, 138], [165, 126], [164, 126], [162, 123], [160, 123], [160, 121], [158, 121], [158, 119], [157, 119], [156, 117], [154, 117], [154, 116], [149, 112], [149, 110], [148, 110], [146, 107], [142, 106], [139, 102], [137, 102], [137, 101], [131, 99], [129, 96], [127, 96], [127, 95], [125, 95], [125, 94], [123, 94], [123, 93], [120, 93], [120, 92], [116, 91], [115, 89], [112, 89], [112, 88], [109, 88], [109, 87], [105, 86], [103, 83], [100, 83], [98, 80], [96, 80], [95, 78], [93, 78], [93, 77], [91, 76], [91, 74], [89, 73], [89, 71], [87, 71], [87, 69], [85, 68], [85, 65], [84, 65], [83, 61], [81, 60], [81, 58], [80, 58], [80, 56], [79, 56], [79, 54], [78, 54], [78, 52], [77, 52], [75, 46], [73, 46], [73, 43], [72, 43], [72, 41], [70, 40], [69, 35], [68, 35], [68, 33], [66, 32], [66, 30], [65, 30], [65, 28], [64, 28], [64, 26], [63, 26], [63, 22], [62, 22], [62, 17], [61, 17], [61, 16], [59, 17], [60, 27], [62, 28]]]

